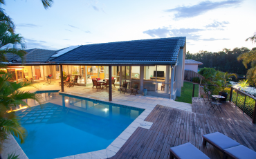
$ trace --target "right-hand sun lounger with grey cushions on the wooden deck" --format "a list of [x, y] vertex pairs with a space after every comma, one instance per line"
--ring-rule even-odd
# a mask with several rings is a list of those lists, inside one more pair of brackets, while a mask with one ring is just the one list
[[221, 151], [223, 153], [223, 159], [228, 157], [239, 159], [256, 158], [255, 151], [242, 146], [235, 140], [219, 132], [203, 135], [203, 145], [206, 145], [206, 142], [209, 142]]

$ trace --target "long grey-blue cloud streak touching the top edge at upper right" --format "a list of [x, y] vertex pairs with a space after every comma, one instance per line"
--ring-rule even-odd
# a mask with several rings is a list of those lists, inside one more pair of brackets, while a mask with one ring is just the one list
[[214, 10], [217, 8], [228, 8], [232, 6], [238, 6], [242, 0], [227, 0], [227, 1], [201, 1], [194, 6], [179, 6], [173, 9], [164, 10], [165, 12], [176, 12], [174, 14], [175, 19], [183, 19], [189, 17], [196, 17], [202, 15], [205, 12]]

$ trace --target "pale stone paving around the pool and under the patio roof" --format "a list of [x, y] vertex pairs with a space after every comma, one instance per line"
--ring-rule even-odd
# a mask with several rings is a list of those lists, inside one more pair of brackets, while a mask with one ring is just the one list
[[[45, 82], [40, 82], [34, 84], [35, 87], [27, 87], [24, 88], [24, 91], [48, 91], [48, 90], [60, 90], [60, 84], [58, 81], [56, 81], [53, 84], [45, 84]], [[104, 102], [109, 102], [109, 93], [104, 89], [97, 89], [92, 88], [92, 86], [74, 86], [74, 87], [64, 87], [64, 93], [68, 95], [75, 95], [78, 97], [86, 97], [91, 98], [94, 100], [100, 100]], [[115, 104], [121, 104], [126, 106], [133, 106], [140, 109], [145, 109], [143, 113], [141, 113], [134, 122], [132, 122], [125, 131], [123, 131], [116, 140], [114, 140], [109, 147], [106, 149], [102, 149], [99, 151], [93, 151], [89, 153], [82, 153], [77, 154], [74, 156], [67, 156], [64, 158], [59, 159], [78, 159], [78, 158], [88, 158], [88, 159], [98, 159], [98, 158], [111, 158], [112, 156], [116, 155], [116, 152], [119, 151], [119, 149], [122, 147], [123, 144], [128, 140], [128, 138], [131, 136], [134, 131], [138, 127], [143, 127], [145, 129], [150, 129], [152, 126], [152, 122], [145, 122], [145, 118], [147, 118], [147, 115], [151, 113], [151, 111], [154, 109], [154, 107], [158, 104], [162, 106], [168, 106], [175, 109], [181, 109], [184, 111], [190, 111], [192, 112], [192, 104], [183, 103], [183, 102], [176, 102], [174, 100], [170, 100], [163, 97], [154, 97], [154, 96], [143, 96], [143, 95], [130, 95], [130, 93], [121, 93], [118, 91], [118, 86], [116, 88], [113, 87], [112, 91], [112, 97], [113, 101], [111, 103]], [[10, 144], [11, 143], [11, 144]], [[8, 138], [8, 141], [6, 144], [3, 144], [3, 152], [1, 156], [3, 159], [8, 158], [8, 154], [16, 153], [16, 155], [19, 155], [20, 159], [28, 158], [24, 151], [22, 151], [21, 147], [18, 147], [19, 144], [16, 142], [15, 138], [10, 136]], [[8, 153], [7, 153], [8, 152]], [[4, 154], [4, 155], [3, 155]]]

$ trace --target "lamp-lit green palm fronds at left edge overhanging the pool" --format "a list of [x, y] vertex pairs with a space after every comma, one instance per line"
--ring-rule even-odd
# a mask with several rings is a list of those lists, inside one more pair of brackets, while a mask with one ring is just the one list
[[8, 134], [17, 136], [21, 143], [26, 137], [26, 130], [19, 124], [13, 109], [20, 106], [27, 106], [24, 100], [33, 99], [39, 102], [39, 97], [35, 93], [21, 91], [21, 88], [32, 86], [30, 82], [10, 82], [8, 73], [0, 73], [0, 142], [6, 140]]

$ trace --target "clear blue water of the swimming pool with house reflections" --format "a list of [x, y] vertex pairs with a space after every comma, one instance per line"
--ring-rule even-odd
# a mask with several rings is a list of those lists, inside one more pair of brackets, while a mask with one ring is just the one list
[[28, 131], [20, 144], [28, 158], [61, 158], [106, 149], [144, 109], [40, 93], [46, 104], [17, 111]]

